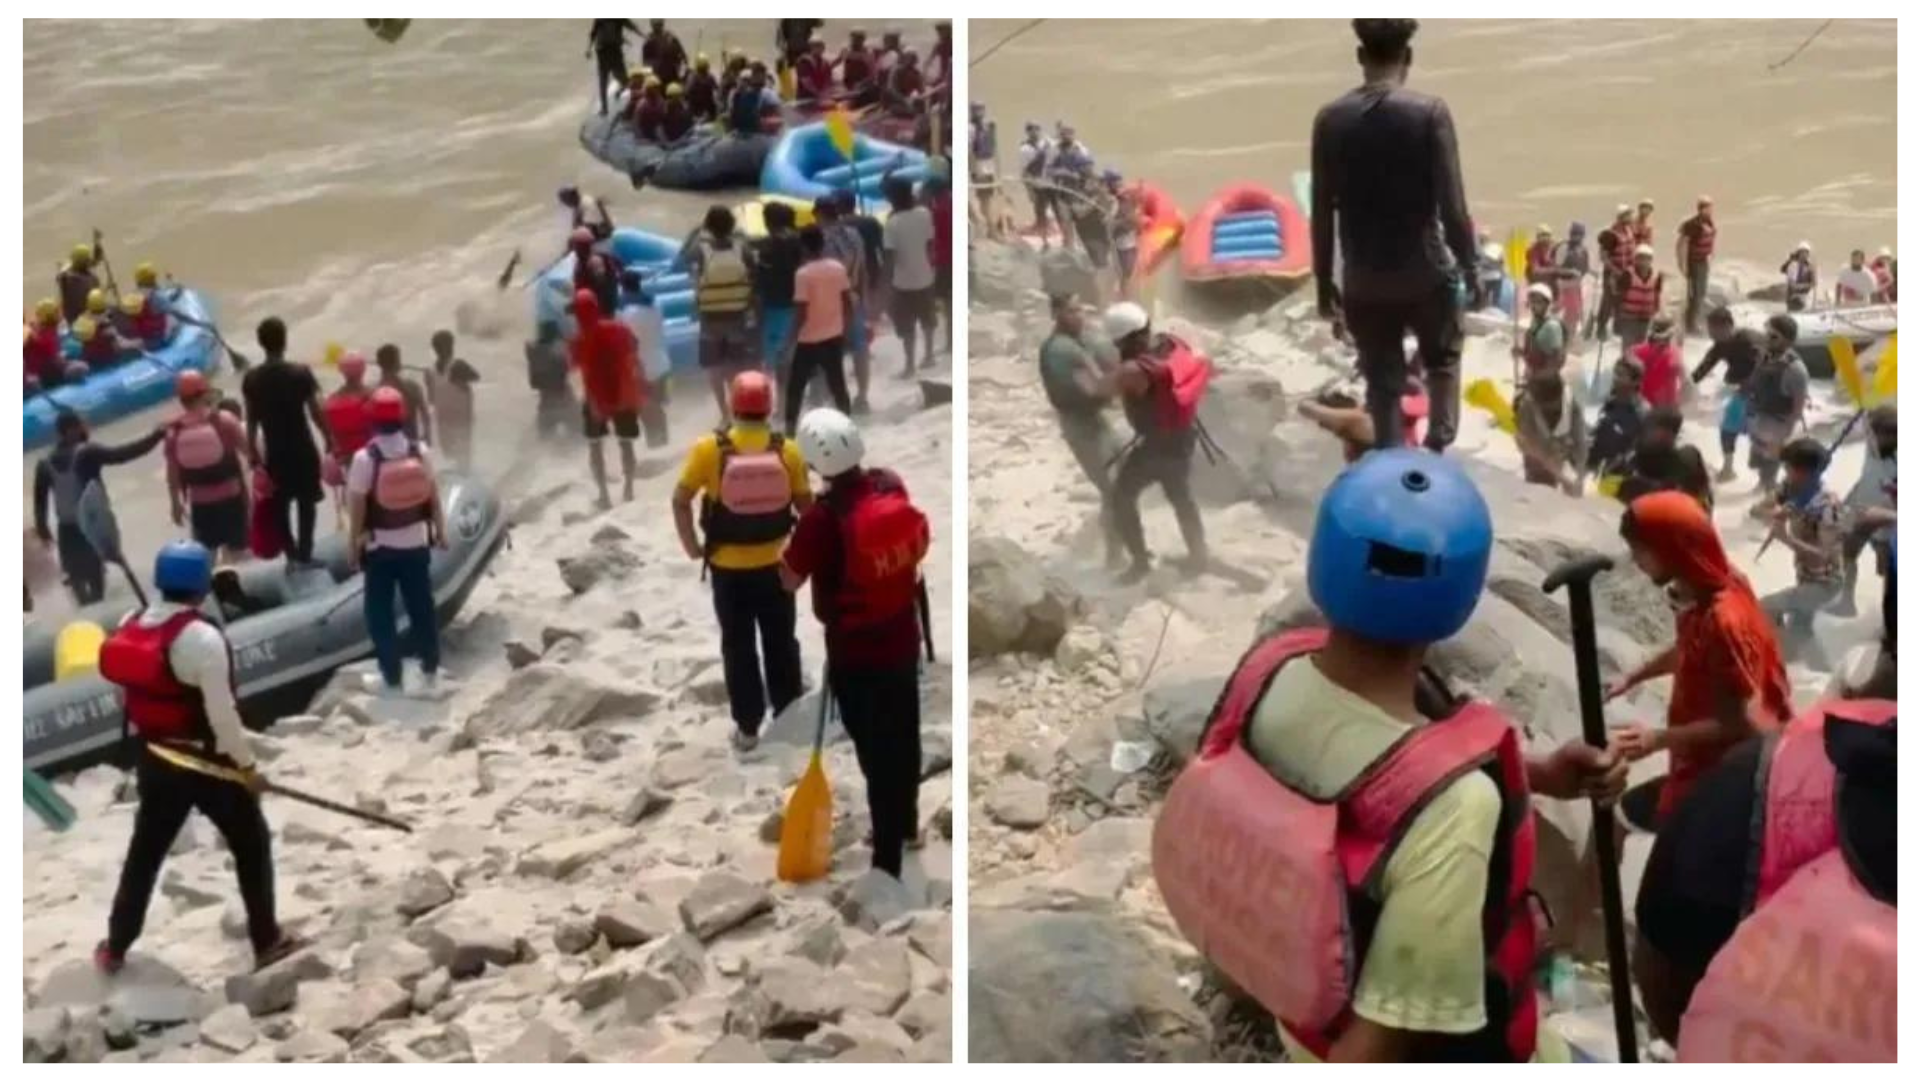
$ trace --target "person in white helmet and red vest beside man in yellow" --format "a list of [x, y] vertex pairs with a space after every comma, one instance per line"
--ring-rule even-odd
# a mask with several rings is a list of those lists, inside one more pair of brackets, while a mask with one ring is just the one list
[[[826, 479], [780, 563], [789, 590], [814, 582], [828, 686], [852, 738], [874, 822], [874, 869], [900, 876], [920, 834], [920, 563], [933, 534], [900, 477], [862, 467], [860, 429], [837, 409], [801, 417], [801, 454]], [[916, 609], [920, 619], [916, 619]], [[927, 640], [931, 661], [933, 642]]]

